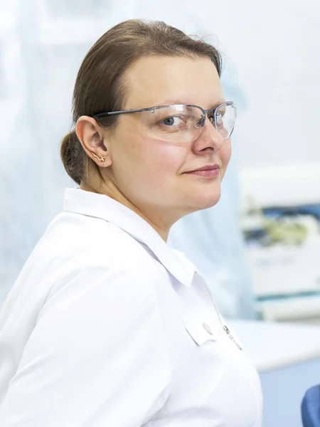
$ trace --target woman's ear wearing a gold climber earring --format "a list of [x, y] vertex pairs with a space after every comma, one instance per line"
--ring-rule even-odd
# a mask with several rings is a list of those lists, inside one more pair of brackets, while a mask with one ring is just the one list
[[[98, 166], [108, 167], [112, 164], [110, 153], [105, 146], [102, 128], [89, 116], [81, 116], [75, 125], [75, 133], [87, 153]], [[102, 160], [103, 159], [103, 160]]]

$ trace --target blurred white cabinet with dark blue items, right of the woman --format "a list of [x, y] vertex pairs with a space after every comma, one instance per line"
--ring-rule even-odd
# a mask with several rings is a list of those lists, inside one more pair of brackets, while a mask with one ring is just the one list
[[320, 164], [241, 174], [242, 231], [265, 320], [320, 323]]

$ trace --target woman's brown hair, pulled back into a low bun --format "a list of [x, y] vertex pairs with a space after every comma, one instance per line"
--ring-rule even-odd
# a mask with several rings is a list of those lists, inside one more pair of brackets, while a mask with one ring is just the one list
[[[124, 72], [142, 56], [202, 56], [210, 58], [220, 76], [220, 53], [200, 39], [160, 21], [132, 19], [112, 27], [103, 34], [85, 56], [73, 92], [73, 122], [82, 115], [119, 111], [124, 108]], [[102, 127], [112, 128], [117, 115], [96, 119]], [[87, 155], [75, 130], [65, 135], [60, 156], [68, 175], [77, 183], [87, 179], [90, 164], [102, 179], [100, 167]]]

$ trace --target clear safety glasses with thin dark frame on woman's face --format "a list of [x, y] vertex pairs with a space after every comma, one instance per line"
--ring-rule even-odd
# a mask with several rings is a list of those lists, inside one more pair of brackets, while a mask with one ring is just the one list
[[237, 117], [232, 101], [223, 102], [210, 110], [203, 110], [198, 105], [161, 105], [136, 110], [100, 112], [93, 117], [134, 112], [141, 113], [142, 128], [146, 135], [166, 142], [194, 141], [201, 135], [207, 116], [223, 139], [228, 139], [233, 133]]

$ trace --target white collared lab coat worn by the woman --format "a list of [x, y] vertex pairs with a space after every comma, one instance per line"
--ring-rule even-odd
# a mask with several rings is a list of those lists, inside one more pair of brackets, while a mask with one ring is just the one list
[[0, 315], [1, 427], [260, 427], [257, 372], [137, 214], [67, 189]]

